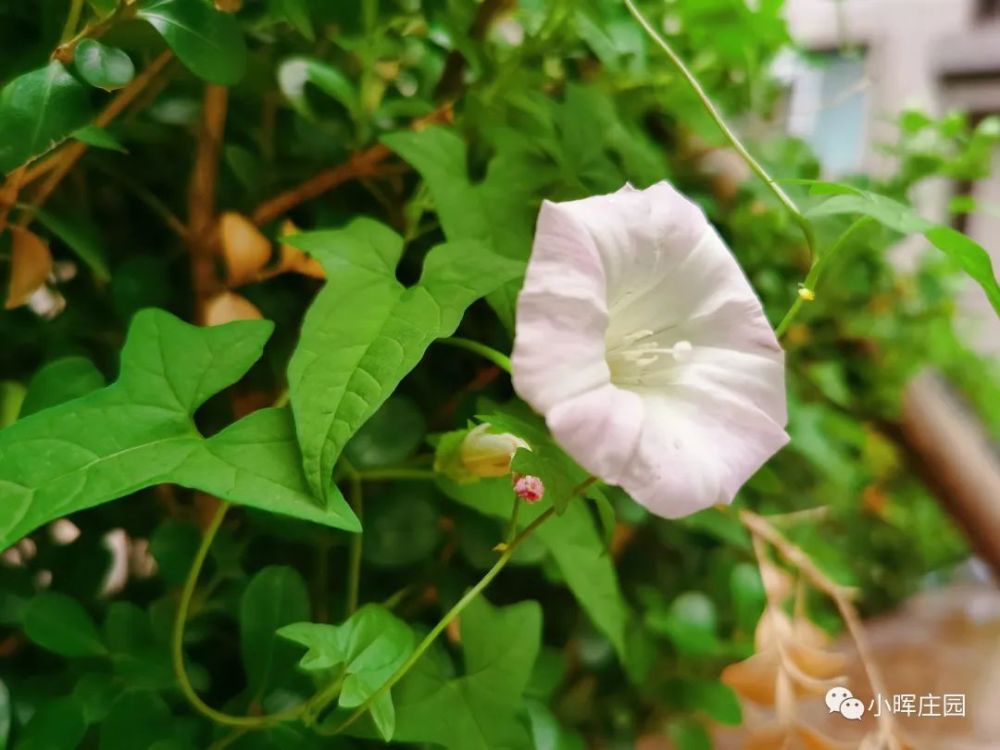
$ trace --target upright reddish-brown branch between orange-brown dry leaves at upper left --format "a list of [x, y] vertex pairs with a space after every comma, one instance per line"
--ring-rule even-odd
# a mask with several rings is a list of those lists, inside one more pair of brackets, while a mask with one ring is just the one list
[[215, 193], [228, 105], [229, 90], [226, 87], [205, 86], [198, 149], [187, 201], [191, 285], [195, 295], [195, 318], [199, 323], [204, 320], [205, 303], [222, 288], [215, 272]]

